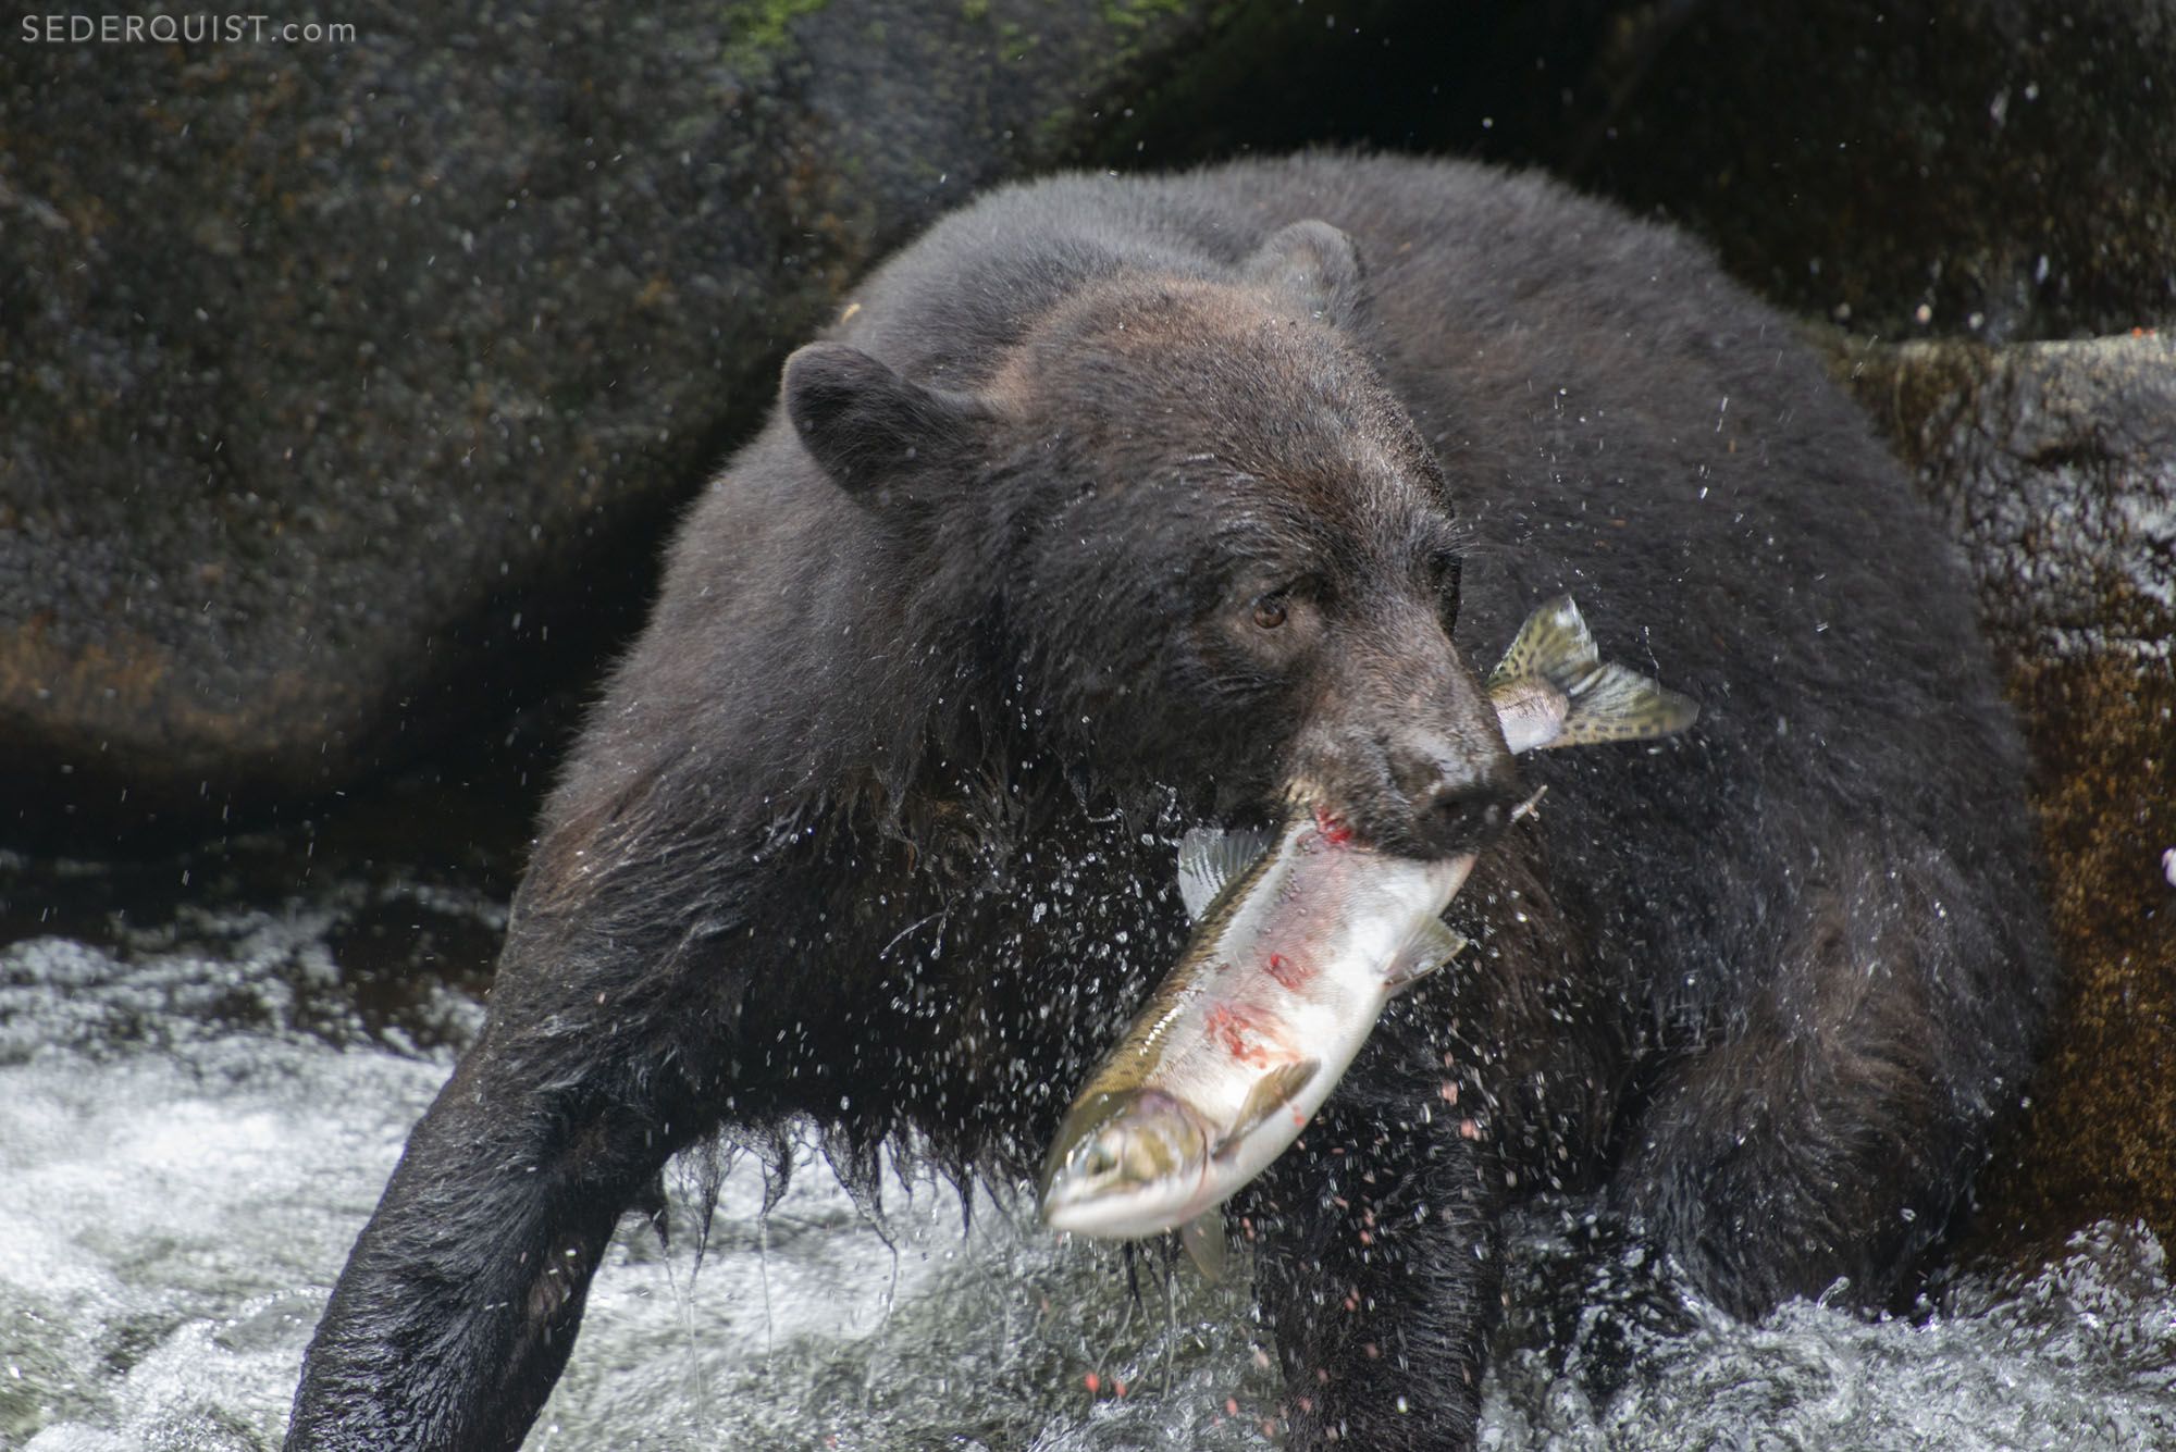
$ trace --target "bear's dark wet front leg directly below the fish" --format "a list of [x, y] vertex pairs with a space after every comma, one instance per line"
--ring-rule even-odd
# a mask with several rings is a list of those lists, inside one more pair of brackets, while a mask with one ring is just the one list
[[1438, 1087], [1414, 1085], [1404, 1124], [1334, 1096], [1242, 1200], [1290, 1448], [1473, 1441], [1501, 1280], [1495, 1204], [1456, 1111], [1438, 1100], [1423, 1117]]

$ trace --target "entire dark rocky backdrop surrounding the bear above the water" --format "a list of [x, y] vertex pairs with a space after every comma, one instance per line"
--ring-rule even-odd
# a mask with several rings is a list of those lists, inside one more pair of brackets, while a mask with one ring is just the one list
[[2176, 1232], [2167, 0], [470, 11], [0, 35], [0, 939], [296, 859], [509, 891], [675, 509], [977, 189], [1475, 154], [1708, 237], [1956, 524], [2074, 980], [1978, 1237]]

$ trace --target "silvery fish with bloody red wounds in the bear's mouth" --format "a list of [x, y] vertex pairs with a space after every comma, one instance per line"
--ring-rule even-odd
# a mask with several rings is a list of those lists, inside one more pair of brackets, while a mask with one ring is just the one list
[[[1660, 737], [1697, 715], [1602, 663], [1569, 596], [1528, 617], [1488, 700], [1512, 752]], [[1042, 1165], [1044, 1224], [1121, 1239], [1177, 1228], [1214, 1272], [1216, 1206], [1299, 1137], [1390, 998], [1464, 948], [1443, 911], [1473, 863], [1380, 850], [1306, 783], [1288, 787], [1277, 828], [1186, 833], [1195, 935], [1066, 1113]]]

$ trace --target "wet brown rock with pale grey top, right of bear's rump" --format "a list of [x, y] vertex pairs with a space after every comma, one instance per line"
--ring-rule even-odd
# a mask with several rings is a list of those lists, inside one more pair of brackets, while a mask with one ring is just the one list
[[1843, 346], [1948, 511], [2039, 763], [2067, 1000], [1982, 1235], [2176, 1232], [2176, 341]]

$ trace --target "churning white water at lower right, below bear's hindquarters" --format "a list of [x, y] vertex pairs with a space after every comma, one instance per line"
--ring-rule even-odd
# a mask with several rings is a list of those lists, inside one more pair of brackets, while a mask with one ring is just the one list
[[[1532, 1269], [1560, 1241], [1528, 1222]], [[1636, 1252], [1634, 1252], [1636, 1254]], [[1652, 1267], [1584, 1267], [1586, 1285]], [[1669, 1280], [1665, 1276], [1665, 1280]], [[1869, 1317], [1791, 1302], [1758, 1324], [1669, 1280], [1671, 1330], [1617, 1326], [1630, 1352], [1612, 1395], [1591, 1395], [1582, 1352], [1504, 1348], [1491, 1378], [1484, 1448], [1676, 1452], [1680, 1448], [1850, 1448], [1854, 1452], [2172, 1448], [2176, 1298], [2159, 1239], [2100, 1224], [2030, 1274], [1967, 1274], [1915, 1317]], [[1604, 1293], [1599, 1300], [1608, 1300]], [[1634, 1317], [1636, 1319], [1636, 1317]], [[1617, 1378], [1608, 1378], [1617, 1380]]]

